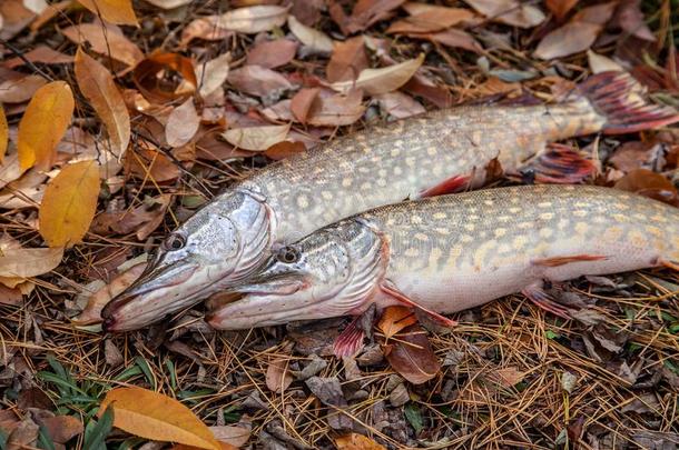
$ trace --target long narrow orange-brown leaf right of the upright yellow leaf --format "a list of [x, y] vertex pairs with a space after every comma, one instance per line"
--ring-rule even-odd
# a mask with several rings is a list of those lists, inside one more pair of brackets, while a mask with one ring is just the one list
[[114, 77], [101, 63], [78, 49], [76, 53], [76, 80], [82, 94], [90, 101], [106, 126], [114, 153], [122, 156], [130, 139], [127, 107]]

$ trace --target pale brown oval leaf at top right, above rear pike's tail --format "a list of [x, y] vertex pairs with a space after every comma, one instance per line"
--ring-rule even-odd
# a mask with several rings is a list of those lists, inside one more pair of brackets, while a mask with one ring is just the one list
[[547, 60], [584, 51], [594, 43], [602, 29], [598, 23], [568, 22], [542, 38], [533, 54]]

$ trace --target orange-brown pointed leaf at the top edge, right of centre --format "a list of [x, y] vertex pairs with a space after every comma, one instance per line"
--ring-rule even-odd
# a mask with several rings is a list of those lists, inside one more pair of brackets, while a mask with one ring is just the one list
[[447, 8], [414, 2], [405, 3], [403, 8], [411, 16], [393, 22], [387, 28], [387, 33], [430, 33], [445, 30], [475, 17], [472, 11], [463, 8]]

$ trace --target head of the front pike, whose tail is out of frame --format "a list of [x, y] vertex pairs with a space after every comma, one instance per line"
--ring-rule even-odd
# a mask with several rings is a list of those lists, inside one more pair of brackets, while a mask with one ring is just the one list
[[348, 219], [274, 249], [247, 281], [244, 294], [208, 314], [217, 329], [238, 330], [357, 313], [384, 277], [383, 237]]

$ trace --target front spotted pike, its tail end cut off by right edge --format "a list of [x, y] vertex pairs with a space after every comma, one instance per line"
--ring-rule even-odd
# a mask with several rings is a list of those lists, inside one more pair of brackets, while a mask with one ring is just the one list
[[[357, 316], [405, 304], [441, 322], [515, 292], [562, 317], [543, 290], [584, 274], [677, 269], [679, 209], [609, 188], [522, 186], [382, 207], [279, 249], [208, 318], [217, 329]], [[354, 321], [354, 324], [357, 323]], [[451, 324], [450, 321], [447, 324]], [[335, 348], [351, 354], [350, 326]], [[360, 341], [356, 341], [360, 340]]]

